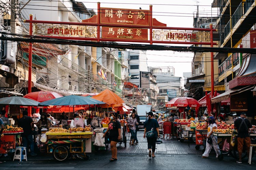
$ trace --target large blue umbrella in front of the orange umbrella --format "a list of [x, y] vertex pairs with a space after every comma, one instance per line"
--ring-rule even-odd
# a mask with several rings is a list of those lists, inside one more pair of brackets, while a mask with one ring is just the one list
[[83, 96], [64, 96], [52, 100], [47, 100], [44, 102], [39, 103], [41, 106], [67, 106], [67, 105], [90, 105], [90, 104], [105, 104], [104, 102], [98, 101], [96, 99], [92, 99], [90, 97], [83, 97]]

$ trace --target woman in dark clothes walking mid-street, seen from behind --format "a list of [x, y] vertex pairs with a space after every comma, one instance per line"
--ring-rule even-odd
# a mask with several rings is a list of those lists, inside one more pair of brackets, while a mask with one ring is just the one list
[[144, 123], [144, 138], [147, 137], [147, 149], [149, 150], [148, 156], [155, 157], [156, 150], [156, 138], [159, 137], [159, 124], [156, 119], [153, 118], [153, 112], [148, 112], [148, 119]]

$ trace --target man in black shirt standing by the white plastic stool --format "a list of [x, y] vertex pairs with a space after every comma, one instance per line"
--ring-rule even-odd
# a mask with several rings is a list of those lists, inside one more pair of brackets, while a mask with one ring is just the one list
[[[28, 116], [27, 111], [23, 111], [23, 117], [19, 119], [19, 126], [23, 128], [22, 136], [22, 145], [26, 147], [28, 153], [28, 146], [30, 146], [30, 155], [36, 156], [34, 153], [34, 141], [32, 136], [32, 129], [34, 128], [34, 122], [31, 117]], [[29, 145], [28, 145], [29, 144]]]

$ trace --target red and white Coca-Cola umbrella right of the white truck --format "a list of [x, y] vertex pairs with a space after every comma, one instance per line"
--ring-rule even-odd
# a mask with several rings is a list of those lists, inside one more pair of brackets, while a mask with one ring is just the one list
[[170, 100], [166, 104], [166, 107], [173, 107], [173, 106], [176, 106], [177, 108], [179, 108], [180, 111], [184, 111], [184, 108], [187, 107], [187, 106], [195, 107], [196, 108], [196, 117], [197, 117], [197, 113], [198, 113], [198, 110], [199, 110], [199, 107], [200, 107], [200, 103], [194, 98], [178, 97], [178, 98], [174, 98], [174, 99]]

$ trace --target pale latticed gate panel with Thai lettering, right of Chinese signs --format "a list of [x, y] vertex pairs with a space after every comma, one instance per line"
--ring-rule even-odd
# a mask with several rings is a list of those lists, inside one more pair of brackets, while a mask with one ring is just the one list
[[210, 42], [210, 32], [153, 30], [153, 40]]

